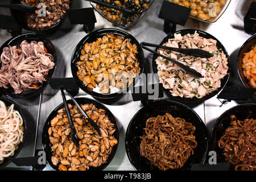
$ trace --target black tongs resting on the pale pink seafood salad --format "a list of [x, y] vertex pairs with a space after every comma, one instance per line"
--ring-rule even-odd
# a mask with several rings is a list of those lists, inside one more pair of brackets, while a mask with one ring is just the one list
[[167, 49], [170, 51], [175, 51], [175, 52], [180, 52], [180, 53], [184, 53], [185, 55], [189, 55], [189, 56], [197, 56], [197, 57], [212, 57], [213, 55], [207, 51], [204, 51], [202, 49], [184, 49], [184, 48], [174, 48], [174, 47], [167, 47], [167, 46], [160, 46], [158, 44], [151, 44], [151, 43], [147, 43], [147, 42], [142, 42], [141, 43], [142, 48], [146, 49], [149, 52], [155, 53], [156, 55], [163, 57], [164, 59], [171, 61], [172, 63], [176, 64], [177, 66], [179, 66], [180, 68], [184, 69], [185, 72], [189, 73], [190, 75], [194, 76], [194, 77], [198, 77], [198, 78], [203, 78], [203, 76], [201, 75], [201, 73], [195, 71], [195, 69], [192, 69], [190, 67], [188, 67], [187, 65], [184, 65], [182, 63], [180, 63], [179, 61], [176, 61], [174, 59], [171, 59], [170, 57], [161, 55], [160, 53], [151, 50], [148, 47], [156, 47], [156, 48], [163, 48], [163, 49]]

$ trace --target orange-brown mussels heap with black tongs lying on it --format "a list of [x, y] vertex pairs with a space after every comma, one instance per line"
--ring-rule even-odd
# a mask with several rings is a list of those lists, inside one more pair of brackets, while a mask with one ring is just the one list
[[79, 148], [72, 141], [71, 129], [64, 107], [57, 111], [48, 129], [52, 144], [52, 164], [59, 165], [60, 171], [85, 171], [106, 163], [113, 146], [118, 140], [113, 137], [114, 123], [105, 115], [104, 109], [96, 109], [93, 104], [82, 105], [85, 113], [100, 127], [101, 136], [82, 116], [77, 106], [68, 104], [73, 124], [79, 138]]

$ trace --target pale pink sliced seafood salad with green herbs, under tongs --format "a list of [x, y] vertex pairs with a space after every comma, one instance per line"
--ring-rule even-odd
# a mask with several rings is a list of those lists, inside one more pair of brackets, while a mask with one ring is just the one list
[[229, 67], [225, 53], [222, 49], [217, 48], [217, 40], [203, 38], [195, 31], [194, 34], [184, 36], [174, 34], [174, 38], [169, 39], [163, 46], [203, 49], [213, 55], [210, 58], [201, 58], [158, 49], [160, 54], [188, 65], [203, 76], [203, 78], [195, 78], [177, 65], [159, 56], [155, 60], [158, 68], [159, 83], [162, 83], [165, 89], [169, 89], [172, 96], [203, 98], [208, 93], [220, 88], [221, 79], [228, 74]]

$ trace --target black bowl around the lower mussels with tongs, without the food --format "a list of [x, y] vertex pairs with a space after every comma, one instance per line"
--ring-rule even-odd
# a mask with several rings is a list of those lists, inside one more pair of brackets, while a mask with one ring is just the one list
[[[104, 109], [106, 111], [106, 115], [108, 116], [110, 122], [114, 123], [115, 128], [117, 129], [117, 130], [115, 130], [115, 132], [113, 134], [113, 137], [118, 140], [118, 144], [119, 144], [118, 126], [117, 126], [117, 122], [115, 121], [115, 117], [111, 113], [111, 111], [107, 107], [105, 107], [104, 105], [100, 104], [100, 102], [91, 100], [89, 98], [82, 98], [82, 97], [80, 97], [80, 98], [76, 98], [76, 101], [80, 105], [82, 105], [82, 104], [93, 104], [93, 105], [96, 106], [97, 109]], [[72, 100], [68, 100], [67, 103], [75, 105]], [[51, 167], [53, 169], [55, 169], [56, 171], [59, 171], [59, 169], [58, 169], [59, 168], [59, 164], [57, 166], [54, 166], [52, 164], [52, 160], [51, 160], [51, 157], [52, 157], [52, 150], [51, 150], [52, 144], [49, 142], [48, 129], [49, 129], [49, 127], [51, 127], [51, 120], [57, 115], [57, 111], [60, 110], [63, 107], [64, 107], [64, 104], [62, 103], [62, 104], [57, 106], [52, 111], [52, 113], [48, 116], [48, 118], [46, 120], [46, 123], [44, 124], [43, 133], [42, 133], [43, 150], [46, 152], [47, 161], [51, 165]], [[101, 166], [96, 167], [96, 168], [95, 167], [90, 167], [89, 171], [100, 171], [100, 170], [105, 169], [109, 165], [109, 163], [112, 161], [112, 159], [114, 158], [115, 152], [117, 152], [118, 144], [113, 146], [112, 152], [109, 155], [108, 160], [107, 160], [106, 163], [101, 164]]]

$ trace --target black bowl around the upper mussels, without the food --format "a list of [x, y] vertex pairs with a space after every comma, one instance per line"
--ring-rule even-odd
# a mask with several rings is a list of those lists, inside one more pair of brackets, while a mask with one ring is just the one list
[[[97, 92], [90, 91], [86, 85], [82, 84], [82, 81], [80, 81], [76, 75], [76, 73], [78, 71], [76, 62], [80, 61], [81, 49], [84, 47], [84, 44], [92, 43], [92, 42], [96, 41], [97, 38], [100, 38], [100, 37], [106, 35], [107, 33], [112, 33], [114, 35], [121, 35], [121, 36], [125, 37], [125, 39], [129, 38], [131, 40], [131, 44], [136, 44], [137, 49], [138, 49], [137, 58], [139, 61], [139, 68], [141, 68], [140, 74], [143, 73], [143, 71], [144, 71], [144, 53], [143, 53], [141, 45], [134, 38], [133, 35], [130, 35], [125, 31], [118, 30], [115, 28], [102, 28], [100, 30], [91, 32], [90, 34], [88, 34], [84, 38], [82, 38], [82, 40], [77, 44], [75, 51], [73, 52], [72, 59], [71, 59], [71, 71], [72, 71], [72, 75], [76, 79], [79, 87], [82, 90], [84, 90], [84, 92], [86, 92], [96, 98], [117, 98], [123, 94], [123, 92], [103, 94], [103, 93], [97, 93]], [[131, 84], [135, 85], [138, 82], [138, 80], [139, 80], [139, 76], [134, 78], [134, 82]], [[130, 89], [130, 86], [127, 88], [126, 92], [129, 89]]]

